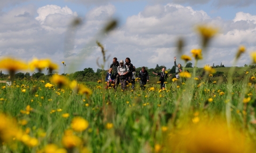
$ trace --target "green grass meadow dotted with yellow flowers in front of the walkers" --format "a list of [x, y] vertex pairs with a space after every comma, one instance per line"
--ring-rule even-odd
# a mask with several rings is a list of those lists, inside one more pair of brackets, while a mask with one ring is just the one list
[[231, 88], [183, 79], [145, 91], [85, 83], [80, 93], [74, 82], [15, 80], [0, 91], [0, 152], [251, 152], [251, 75]]

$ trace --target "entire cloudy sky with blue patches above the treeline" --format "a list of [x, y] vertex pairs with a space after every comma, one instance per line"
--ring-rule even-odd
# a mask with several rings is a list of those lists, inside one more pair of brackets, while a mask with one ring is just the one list
[[[25, 61], [50, 58], [67, 73], [102, 64], [105, 46], [112, 59], [129, 57], [135, 67], [155, 68], [156, 64], [173, 66], [174, 57], [184, 65], [177, 52], [182, 38], [182, 54], [201, 48], [195, 26], [207, 23], [219, 27], [219, 33], [203, 53], [204, 65], [232, 66], [239, 45], [246, 53], [237, 66], [251, 64], [250, 52], [256, 51], [256, 1], [253, 0], [12, 0], [0, 3], [0, 56]], [[118, 26], [109, 33], [102, 28], [110, 20]], [[81, 21], [74, 24], [74, 21]], [[194, 66], [195, 61], [191, 61]]]

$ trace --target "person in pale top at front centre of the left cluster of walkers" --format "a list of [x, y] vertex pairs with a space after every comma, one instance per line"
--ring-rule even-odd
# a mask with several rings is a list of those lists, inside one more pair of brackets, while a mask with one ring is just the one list
[[117, 68], [117, 73], [120, 78], [120, 83], [121, 83], [122, 89], [125, 90], [127, 74], [129, 73], [129, 68], [126, 65], [124, 65], [123, 60], [121, 60], [119, 63], [120, 63], [120, 66], [118, 66], [118, 68]]

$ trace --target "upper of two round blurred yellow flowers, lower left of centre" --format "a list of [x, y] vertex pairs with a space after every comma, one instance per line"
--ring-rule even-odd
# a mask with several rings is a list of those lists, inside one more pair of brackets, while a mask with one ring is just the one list
[[89, 123], [82, 117], [75, 117], [71, 121], [71, 128], [73, 128], [73, 130], [77, 132], [86, 130], [88, 126]]

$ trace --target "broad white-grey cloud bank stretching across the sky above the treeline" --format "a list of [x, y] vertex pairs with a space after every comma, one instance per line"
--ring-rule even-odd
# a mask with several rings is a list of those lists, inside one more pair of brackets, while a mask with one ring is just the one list
[[[88, 67], [95, 70], [98, 68], [96, 59], [101, 57], [95, 44], [98, 40], [106, 47], [107, 55], [111, 55], [109, 63], [113, 57], [118, 60], [129, 57], [135, 67], [154, 68], [158, 64], [171, 68], [173, 57], [179, 59], [180, 56], [175, 47], [180, 36], [185, 38], [185, 54], [200, 47], [193, 27], [202, 22], [218, 25], [222, 29], [199, 65], [219, 65], [222, 62], [225, 66], [231, 66], [230, 61], [241, 44], [248, 51], [255, 50], [256, 19], [251, 14], [239, 12], [233, 21], [225, 21], [221, 18], [212, 19], [204, 11], [192, 7], [151, 5], [137, 15], [128, 17], [124, 25], [115, 31], [99, 34], [115, 10], [115, 6], [110, 4], [94, 7], [82, 19], [85, 21], [82, 26], [74, 31], [69, 29], [66, 33], [71, 20], [77, 17], [68, 6], [61, 8], [46, 5], [36, 8], [28, 5], [15, 8], [0, 15], [3, 21], [0, 25], [1, 55], [12, 54], [26, 60], [33, 57], [51, 58], [57, 63], [65, 61], [68, 73]], [[238, 65], [243, 66], [246, 61], [250, 61], [248, 54], [242, 56]], [[182, 63], [180, 59], [178, 62]]]

